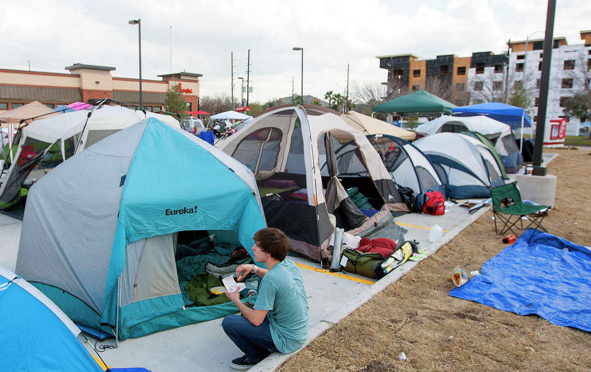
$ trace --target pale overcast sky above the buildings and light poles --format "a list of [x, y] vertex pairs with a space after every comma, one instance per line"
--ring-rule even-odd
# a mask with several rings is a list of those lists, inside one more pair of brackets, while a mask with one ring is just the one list
[[[160, 80], [171, 70], [203, 74], [201, 96], [230, 94], [230, 52], [235, 96], [246, 78], [251, 51], [251, 101], [300, 91], [344, 92], [350, 81], [386, 80], [376, 55], [413, 53], [469, 56], [501, 52], [508, 39], [545, 29], [541, 0], [423, 1], [26, 1], [2, 6], [1, 68], [67, 72], [83, 64], [115, 67], [116, 77], [138, 76], [138, 29], [142, 21], [142, 77]], [[172, 27], [172, 28], [171, 28]], [[591, 29], [589, 0], [558, 1], [554, 37], [581, 44]], [[538, 32], [532, 38], [543, 38]], [[171, 41], [172, 40], [172, 41]], [[170, 52], [172, 48], [172, 53]], [[171, 68], [172, 54], [172, 68]]]

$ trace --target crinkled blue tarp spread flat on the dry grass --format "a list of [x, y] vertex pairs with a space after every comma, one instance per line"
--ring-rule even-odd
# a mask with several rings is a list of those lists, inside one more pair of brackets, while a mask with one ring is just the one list
[[528, 229], [481, 272], [448, 294], [591, 331], [591, 251], [584, 246]]

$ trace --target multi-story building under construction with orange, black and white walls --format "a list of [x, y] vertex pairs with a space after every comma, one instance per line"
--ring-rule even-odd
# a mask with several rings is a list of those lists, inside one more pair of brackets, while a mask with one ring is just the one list
[[[550, 68], [547, 118], [564, 117], [563, 104], [568, 97], [589, 87], [591, 78], [591, 30], [580, 31], [583, 44], [569, 45], [564, 37], [554, 38]], [[527, 44], [527, 52], [526, 52]], [[382, 55], [379, 67], [388, 70], [388, 87], [410, 91], [439, 89], [443, 98], [458, 106], [503, 101], [517, 88], [531, 101], [535, 122], [540, 95], [541, 61], [544, 39], [508, 42], [508, 52], [474, 52], [470, 57], [438, 55], [421, 60], [413, 54]], [[444, 85], [447, 91], [442, 91]], [[433, 92], [432, 92], [433, 93]], [[567, 118], [579, 123], [578, 118]]]

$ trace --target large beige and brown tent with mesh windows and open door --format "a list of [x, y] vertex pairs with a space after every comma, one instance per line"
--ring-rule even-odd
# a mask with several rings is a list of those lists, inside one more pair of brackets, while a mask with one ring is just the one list
[[[353, 154], [365, 167], [361, 175], [342, 172], [342, 165], [348, 164], [335, 159], [335, 150], [350, 141], [356, 150]], [[255, 173], [267, 225], [287, 233], [294, 251], [324, 265], [332, 259], [326, 248], [335, 226], [363, 235], [375, 228], [375, 222], [389, 218], [391, 210], [408, 211], [368, 139], [345, 123], [340, 113], [327, 108], [269, 108], [219, 149]], [[324, 163], [327, 166], [320, 172]], [[366, 218], [346, 193], [352, 187], [379, 212]]]

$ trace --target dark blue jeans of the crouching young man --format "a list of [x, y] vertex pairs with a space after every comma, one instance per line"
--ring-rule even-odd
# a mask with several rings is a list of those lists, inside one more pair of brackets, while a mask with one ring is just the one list
[[273, 343], [267, 317], [256, 326], [241, 315], [228, 315], [223, 318], [222, 328], [252, 363], [259, 363], [279, 351]]

